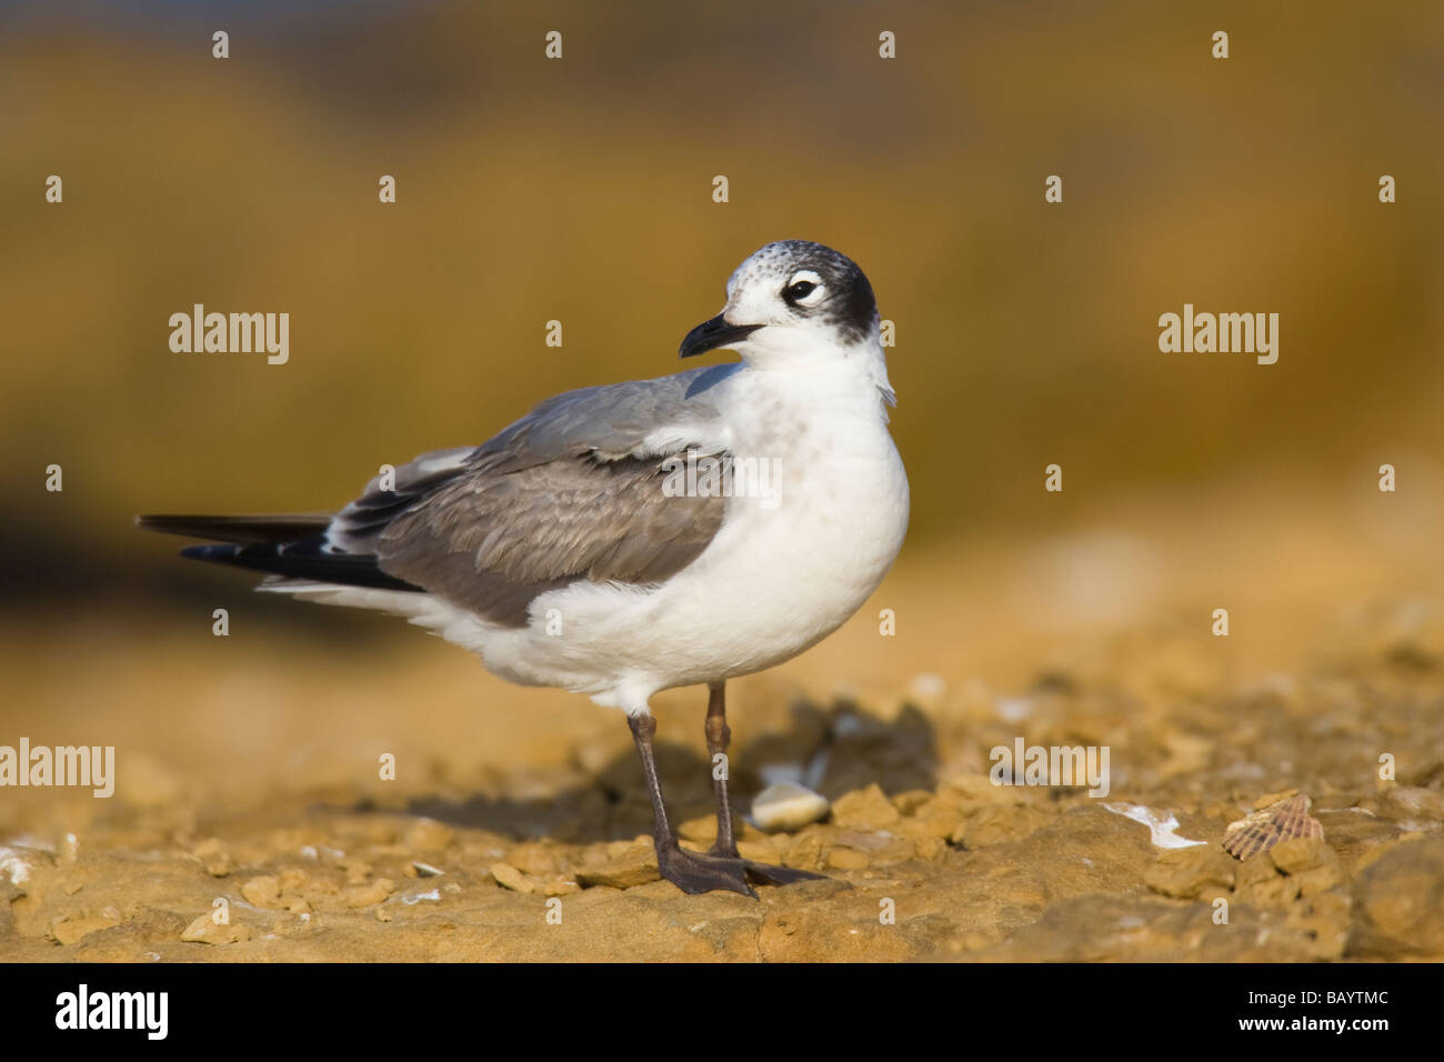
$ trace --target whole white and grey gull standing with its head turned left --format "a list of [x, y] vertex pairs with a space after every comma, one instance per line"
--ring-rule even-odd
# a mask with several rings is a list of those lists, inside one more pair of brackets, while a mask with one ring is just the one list
[[[840, 627], [901, 549], [908, 483], [888, 433], [877, 301], [843, 254], [770, 243], [682, 341], [741, 361], [566, 392], [479, 446], [423, 454], [335, 514], [142, 516], [222, 545], [260, 590], [407, 618], [510, 682], [627, 714], [661, 876], [686, 893], [814, 874], [742, 860], [728, 800], [726, 682]], [[650, 698], [708, 688], [716, 844], [667, 816]]]

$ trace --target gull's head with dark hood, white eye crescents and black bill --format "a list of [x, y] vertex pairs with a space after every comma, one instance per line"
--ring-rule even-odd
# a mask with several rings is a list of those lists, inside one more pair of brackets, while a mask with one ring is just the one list
[[846, 357], [875, 344], [878, 303], [858, 264], [806, 240], [770, 243], [726, 282], [726, 306], [687, 332], [682, 357], [728, 347], [777, 366]]

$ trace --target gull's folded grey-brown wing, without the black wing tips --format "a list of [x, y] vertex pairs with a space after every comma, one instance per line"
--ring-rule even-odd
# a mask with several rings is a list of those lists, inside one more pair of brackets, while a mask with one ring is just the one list
[[670, 497], [667, 461], [725, 457], [710, 389], [738, 366], [567, 392], [477, 449], [436, 451], [373, 480], [328, 530], [383, 572], [495, 623], [578, 579], [654, 584], [712, 542], [725, 497]]

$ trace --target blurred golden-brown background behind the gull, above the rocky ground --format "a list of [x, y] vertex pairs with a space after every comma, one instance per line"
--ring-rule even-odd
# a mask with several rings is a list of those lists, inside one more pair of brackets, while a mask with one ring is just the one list
[[[852, 256], [895, 322], [914, 509], [877, 598], [741, 711], [1019, 689], [1138, 631], [1246, 675], [1435, 614], [1441, 52], [1444, 9], [1391, 1], [7, 4], [0, 740], [114, 743], [156, 799], [364, 785], [377, 748], [464, 779], [559, 730], [625, 748], [580, 698], [131, 517], [335, 509], [554, 392], [676, 371], [778, 238]], [[198, 302], [289, 312], [289, 364], [172, 353]], [[1186, 302], [1278, 314], [1278, 363], [1160, 353]], [[692, 727], [699, 698], [660, 701]]]

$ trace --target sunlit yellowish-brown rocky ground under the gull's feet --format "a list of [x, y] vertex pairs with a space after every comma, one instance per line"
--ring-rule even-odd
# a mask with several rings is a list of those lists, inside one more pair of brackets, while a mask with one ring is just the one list
[[[794, 832], [741, 824], [745, 855], [827, 878], [758, 900], [658, 880], [624, 734], [485, 779], [433, 764], [248, 799], [133, 766], [81, 826], [12, 829], [0, 958], [1444, 959], [1440, 639], [1370, 629], [1248, 683], [1160, 634], [1008, 698], [936, 675], [872, 704], [754, 688], [734, 717], [741, 808], [780, 776], [832, 802]], [[699, 705], [660, 715], [663, 785], [705, 847]], [[1018, 737], [1109, 746], [1109, 795], [992, 785], [989, 750]], [[1288, 790], [1321, 838], [1223, 851], [1230, 822]]]

